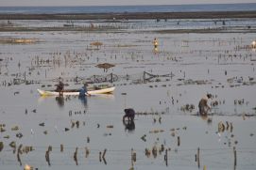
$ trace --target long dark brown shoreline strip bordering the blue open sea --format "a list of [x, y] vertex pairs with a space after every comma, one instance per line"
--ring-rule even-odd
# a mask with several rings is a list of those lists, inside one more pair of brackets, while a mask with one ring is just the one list
[[253, 11], [0, 14], [0, 20], [168, 20], [256, 18]]

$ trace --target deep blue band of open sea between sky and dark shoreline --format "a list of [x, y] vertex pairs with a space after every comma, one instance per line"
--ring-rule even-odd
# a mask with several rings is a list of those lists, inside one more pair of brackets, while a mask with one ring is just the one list
[[[1, 6], [1, 5], [0, 5]], [[101, 12], [189, 12], [256, 10], [256, 3], [168, 5], [168, 6], [87, 6], [87, 7], [0, 7], [0, 13], [101, 13]]]

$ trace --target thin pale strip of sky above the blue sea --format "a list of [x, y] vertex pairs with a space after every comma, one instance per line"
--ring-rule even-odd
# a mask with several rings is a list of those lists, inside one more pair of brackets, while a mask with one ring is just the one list
[[0, 0], [8, 6], [124, 6], [256, 3], [255, 0]]

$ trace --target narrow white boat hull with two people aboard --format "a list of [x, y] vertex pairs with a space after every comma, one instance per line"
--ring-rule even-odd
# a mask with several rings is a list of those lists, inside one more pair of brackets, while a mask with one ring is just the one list
[[[112, 93], [114, 88], [115, 88], [114, 86], [105, 87], [105, 88], [96, 87], [94, 89], [89, 89], [87, 93], [90, 95], [108, 94], [108, 93]], [[62, 95], [63, 96], [78, 96], [79, 91], [80, 91], [79, 89], [66, 89], [63, 91]], [[38, 92], [40, 93], [41, 96], [59, 96], [60, 95], [60, 93], [56, 90], [38, 89]]]

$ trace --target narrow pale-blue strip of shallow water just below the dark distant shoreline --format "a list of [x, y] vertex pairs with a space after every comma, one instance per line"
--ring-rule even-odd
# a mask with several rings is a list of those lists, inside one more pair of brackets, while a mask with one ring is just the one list
[[[7, 24], [8, 21], [1, 21]], [[168, 30], [168, 29], [230, 29], [255, 28], [256, 22], [253, 19], [168, 19], [168, 20], [12, 20], [10, 23], [18, 27], [107, 27], [129, 30]]]

